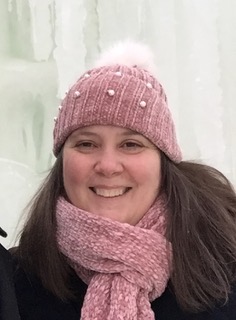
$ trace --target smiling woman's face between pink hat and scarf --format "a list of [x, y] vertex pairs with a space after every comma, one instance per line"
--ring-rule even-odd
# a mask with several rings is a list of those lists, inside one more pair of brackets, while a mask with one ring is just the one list
[[129, 129], [80, 128], [65, 142], [63, 179], [76, 207], [135, 225], [159, 192], [160, 152]]

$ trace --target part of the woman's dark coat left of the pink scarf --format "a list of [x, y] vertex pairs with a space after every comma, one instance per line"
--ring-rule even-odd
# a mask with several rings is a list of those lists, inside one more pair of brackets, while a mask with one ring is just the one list
[[[78, 291], [83, 283], [77, 277], [73, 279]], [[40, 279], [25, 272], [14, 257], [14, 284], [19, 311], [22, 320], [71, 319], [80, 318], [83, 299], [62, 301], [44, 288]]]

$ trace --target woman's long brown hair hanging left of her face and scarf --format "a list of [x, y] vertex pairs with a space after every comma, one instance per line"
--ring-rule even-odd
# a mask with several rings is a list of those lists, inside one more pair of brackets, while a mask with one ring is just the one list
[[[16, 254], [26, 272], [41, 279], [45, 288], [62, 300], [73, 297], [69, 287], [71, 269], [56, 242], [56, 201], [64, 194], [62, 153], [27, 206], [28, 220]], [[14, 252], [14, 251], [13, 251]]]

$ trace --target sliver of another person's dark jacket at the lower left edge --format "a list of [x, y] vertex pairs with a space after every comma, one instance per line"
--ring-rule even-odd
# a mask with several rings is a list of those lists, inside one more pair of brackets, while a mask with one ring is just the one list
[[13, 283], [12, 258], [0, 244], [0, 320], [19, 320]]

